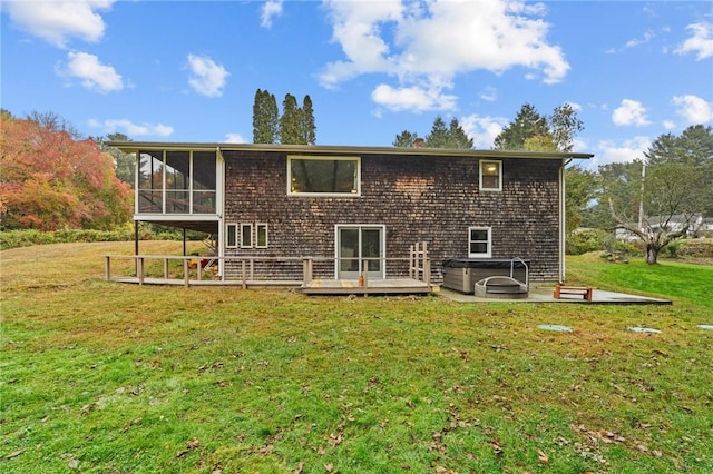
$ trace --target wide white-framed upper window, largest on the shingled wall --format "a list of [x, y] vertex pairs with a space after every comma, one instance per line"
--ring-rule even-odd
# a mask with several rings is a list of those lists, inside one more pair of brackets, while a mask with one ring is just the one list
[[287, 157], [287, 195], [359, 196], [359, 157]]

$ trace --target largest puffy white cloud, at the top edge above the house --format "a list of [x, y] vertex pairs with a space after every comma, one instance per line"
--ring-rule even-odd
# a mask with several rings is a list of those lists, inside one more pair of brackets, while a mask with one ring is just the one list
[[[569, 70], [561, 49], [547, 39], [544, 4], [521, 1], [359, 2], [326, 0], [332, 39], [343, 60], [325, 65], [320, 81], [331, 88], [365, 73], [394, 78], [391, 90], [443, 90], [472, 70], [502, 73], [522, 67], [546, 83]], [[477, 32], [477, 33], [476, 33]], [[426, 86], [423, 86], [426, 85]], [[384, 92], [374, 90], [372, 97]], [[402, 95], [400, 109], [419, 102]], [[439, 101], [436, 107], [442, 107]], [[397, 108], [392, 105], [392, 108]], [[437, 109], [438, 110], [438, 109]]]

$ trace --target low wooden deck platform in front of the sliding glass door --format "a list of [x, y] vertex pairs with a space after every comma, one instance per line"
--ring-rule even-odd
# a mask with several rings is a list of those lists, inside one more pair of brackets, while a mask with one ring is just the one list
[[353, 279], [314, 279], [302, 285], [306, 295], [428, 295], [436, 287], [411, 278], [370, 279], [360, 286]]

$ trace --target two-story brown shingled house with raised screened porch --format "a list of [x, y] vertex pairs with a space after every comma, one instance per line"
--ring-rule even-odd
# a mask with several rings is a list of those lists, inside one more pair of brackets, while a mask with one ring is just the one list
[[[113, 142], [137, 158], [136, 223], [217, 236], [218, 275], [261, 258], [263, 279], [403, 273], [427, 243], [431, 275], [458, 257], [530, 264], [564, 279], [564, 168], [588, 154], [291, 145]], [[138, 246], [137, 246], [138, 248]], [[235, 258], [233, 258], [235, 257]], [[244, 260], [243, 260], [244, 261]], [[364, 264], [365, 263], [365, 264]], [[365, 267], [364, 267], [365, 265]]]

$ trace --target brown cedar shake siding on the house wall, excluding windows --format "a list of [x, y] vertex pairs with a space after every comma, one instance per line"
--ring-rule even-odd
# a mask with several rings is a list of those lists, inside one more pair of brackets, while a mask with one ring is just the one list
[[[304, 151], [223, 150], [224, 223], [266, 224], [267, 248], [226, 248], [225, 256], [334, 257], [335, 225], [385, 226], [387, 277], [408, 275], [409, 247], [427, 241], [434, 282], [443, 260], [468, 256], [468, 228], [491, 228], [491, 258], [530, 260], [530, 279], [559, 273], [559, 158], [487, 158], [378, 152], [361, 158], [360, 196], [289, 196], [287, 156]], [[323, 152], [321, 154], [324, 155]], [[315, 154], [315, 156], [318, 156]], [[479, 189], [479, 160], [501, 162], [502, 190]], [[226, 265], [234, 278], [237, 264]], [[273, 274], [301, 279], [302, 266], [274, 264]], [[295, 275], [295, 273], [299, 273]], [[334, 263], [315, 264], [315, 278], [334, 278]]]

